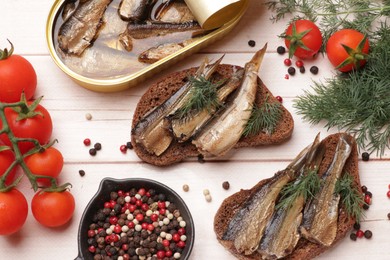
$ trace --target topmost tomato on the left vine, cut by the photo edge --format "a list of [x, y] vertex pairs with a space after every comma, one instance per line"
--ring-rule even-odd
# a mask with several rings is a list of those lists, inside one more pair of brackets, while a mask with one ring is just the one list
[[[13, 52], [12, 43], [10, 52]], [[22, 92], [27, 100], [31, 99], [37, 86], [37, 75], [31, 63], [19, 55], [2, 56], [0, 55], [0, 102], [18, 102]]]

